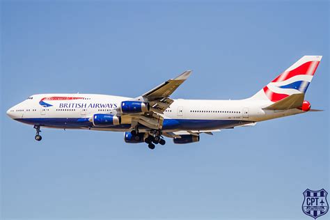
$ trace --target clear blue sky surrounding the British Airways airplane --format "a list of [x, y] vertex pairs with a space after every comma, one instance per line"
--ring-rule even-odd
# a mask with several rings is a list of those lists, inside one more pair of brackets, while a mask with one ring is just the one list
[[[6, 116], [32, 94], [136, 97], [190, 69], [173, 98], [245, 98], [304, 55], [323, 55], [306, 100], [326, 111], [190, 145], [37, 143]], [[309, 219], [305, 189], [330, 192], [328, 1], [1, 1], [0, 63], [1, 219]]]

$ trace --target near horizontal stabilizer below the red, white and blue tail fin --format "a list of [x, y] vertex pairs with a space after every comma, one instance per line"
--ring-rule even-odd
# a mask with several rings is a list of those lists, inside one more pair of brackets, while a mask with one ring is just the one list
[[304, 93], [292, 94], [288, 97], [285, 97], [283, 100], [275, 102], [274, 104], [269, 105], [269, 107], [265, 107], [265, 110], [288, 110], [288, 109], [296, 109], [301, 107], [304, 102]]

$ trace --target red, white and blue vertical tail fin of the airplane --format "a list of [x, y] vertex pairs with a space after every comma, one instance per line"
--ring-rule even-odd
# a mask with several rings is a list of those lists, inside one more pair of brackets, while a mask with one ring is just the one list
[[290, 95], [305, 94], [321, 58], [303, 56], [249, 99], [278, 102]]

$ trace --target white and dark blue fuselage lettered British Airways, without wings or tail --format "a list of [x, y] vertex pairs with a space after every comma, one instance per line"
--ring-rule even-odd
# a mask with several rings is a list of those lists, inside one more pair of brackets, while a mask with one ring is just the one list
[[[53, 100], [45, 100], [53, 97]], [[54, 98], [55, 97], [55, 98]], [[70, 97], [56, 100], [56, 97]], [[122, 116], [122, 125], [93, 127], [88, 120], [95, 113], [116, 115], [120, 102], [129, 97], [95, 94], [40, 94], [8, 109], [10, 118], [30, 125], [68, 129], [128, 131], [131, 116]], [[265, 100], [174, 100], [164, 111], [164, 131], [212, 130], [247, 125], [262, 120], [304, 113], [299, 109], [264, 110]]]

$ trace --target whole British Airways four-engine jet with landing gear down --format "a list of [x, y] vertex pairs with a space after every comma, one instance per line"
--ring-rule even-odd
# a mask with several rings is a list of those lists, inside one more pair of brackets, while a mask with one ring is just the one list
[[243, 100], [184, 100], [170, 95], [190, 76], [185, 71], [139, 97], [95, 94], [31, 95], [7, 111], [20, 123], [40, 128], [125, 132], [126, 143], [164, 145], [200, 141], [200, 134], [292, 116], [311, 109], [304, 100], [322, 56], [303, 56], [255, 95]]

